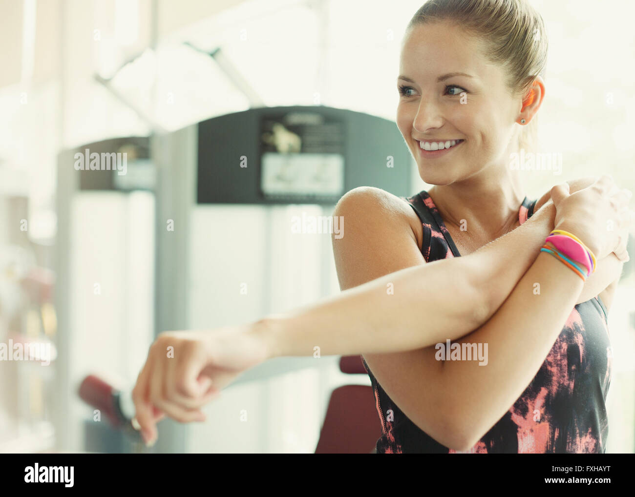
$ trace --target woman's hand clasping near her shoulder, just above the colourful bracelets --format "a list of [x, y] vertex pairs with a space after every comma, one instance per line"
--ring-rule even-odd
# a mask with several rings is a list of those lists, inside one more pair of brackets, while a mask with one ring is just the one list
[[610, 176], [601, 176], [589, 187], [570, 193], [568, 183], [551, 189], [556, 206], [556, 229], [576, 235], [597, 260], [614, 252], [628, 260], [626, 244], [635, 213], [629, 209], [632, 193], [618, 189]]

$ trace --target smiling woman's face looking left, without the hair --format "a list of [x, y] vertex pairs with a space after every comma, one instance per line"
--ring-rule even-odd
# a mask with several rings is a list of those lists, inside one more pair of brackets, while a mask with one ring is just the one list
[[[481, 50], [451, 23], [418, 25], [404, 38], [397, 126], [431, 185], [502, 171], [517, 151], [511, 145], [521, 100], [505, 86], [504, 70]], [[421, 150], [420, 141], [431, 150]], [[439, 145], [430, 142], [444, 142], [443, 150], [434, 151]]]

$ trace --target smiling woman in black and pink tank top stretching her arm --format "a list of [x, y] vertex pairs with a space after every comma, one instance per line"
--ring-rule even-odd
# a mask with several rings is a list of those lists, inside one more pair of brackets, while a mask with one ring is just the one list
[[[237, 374], [317, 345], [364, 355], [378, 453], [604, 451], [600, 300], [610, 306], [627, 258], [630, 194], [603, 176], [538, 202], [523, 195], [507, 158], [544, 98], [545, 58], [542, 20], [524, 2], [425, 4], [404, 37], [397, 124], [434, 187], [408, 202], [371, 188], [344, 195], [334, 215], [347, 231], [333, 239], [341, 295], [214, 333], [162, 333], [133, 392], [144, 437], [156, 440], [166, 414], [204, 420], [200, 408]], [[585, 281], [541, 251], [554, 227], [597, 256]], [[486, 366], [439, 361], [446, 340], [487, 344]]]

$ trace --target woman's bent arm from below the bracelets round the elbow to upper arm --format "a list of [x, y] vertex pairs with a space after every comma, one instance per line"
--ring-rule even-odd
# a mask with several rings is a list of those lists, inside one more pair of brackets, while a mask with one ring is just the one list
[[479, 361], [438, 361], [434, 347], [364, 357], [413, 423], [446, 447], [467, 450], [537, 374], [572, 314], [582, 284], [572, 270], [541, 252], [495, 315], [456, 342], [487, 344], [483, 366]]

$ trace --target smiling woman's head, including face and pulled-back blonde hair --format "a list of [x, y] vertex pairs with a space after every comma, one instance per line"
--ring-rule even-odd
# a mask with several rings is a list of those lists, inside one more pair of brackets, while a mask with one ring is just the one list
[[[535, 128], [535, 114], [545, 93], [541, 74], [547, 40], [542, 21], [523, 12], [523, 3], [518, 4], [517, 15], [528, 22], [516, 23], [516, 32], [504, 24], [505, 19], [513, 23], [511, 3], [453, 2], [451, 19], [448, 10], [441, 9], [443, 4], [425, 4], [425, 10], [411, 21], [398, 79], [397, 124], [415, 157], [424, 159], [417, 161], [420, 173], [431, 184], [438, 184], [441, 171], [438, 161], [432, 167], [425, 159], [455, 161], [456, 154], [430, 153], [451, 148], [452, 140], [466, 142], [460, 147], [462, 156], [483, 166], [491, 159], [504, 164], [509, 154], [527, 148], [530, 144], [523, 129]], [[490, 11], [485, 9], [488, 4]], [[493, 15], [496, 5], [504, 11], [493, 20], [487, 16]], [[483, 17], [490, 23], [476, 22]], [[480, 37], [475, 32], [478, 25], [483, 30]], [[440, 121], [446, 122], [443, 133], [439, 133]], [[450, 147], [445, 146], [448, 141]], [[465, 171], [455, 166], [452, 173]], [[448, 174], [447, 169], [443, 174]]]

